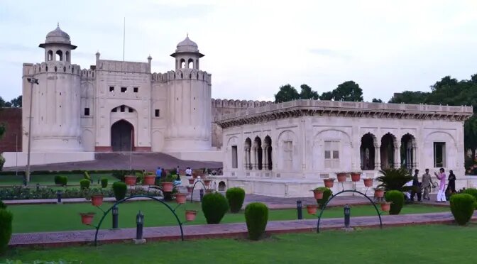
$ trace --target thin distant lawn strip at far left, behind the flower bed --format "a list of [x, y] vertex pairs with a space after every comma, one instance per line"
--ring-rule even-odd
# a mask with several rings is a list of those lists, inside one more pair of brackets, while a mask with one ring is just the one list
[[[31, 181], [29, 185], [54, 185], [55, 184], [56, 174], [49, 175], [31, 175]], [[79, 185], [79, 180], [84, 179], [82, 174], [70, 174], [65, 175], [68, 177], [68, 184]], [[113, 177], [110, 173], [90, 173], [89, 176], [92, 177], [94, 183], [98, 182], [98, 179], [102, 177], [108, 178], [109, 182], [114, 182], [117, 179]], [[16, 176], [15, 172], [12, 175], [0, 175], [0, 185], [23, 185], [23, 176]]]

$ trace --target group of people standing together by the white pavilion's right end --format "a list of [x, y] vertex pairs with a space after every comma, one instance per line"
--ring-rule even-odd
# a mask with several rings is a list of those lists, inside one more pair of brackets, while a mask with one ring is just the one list
[[[412, 181], [408, 182], [408, 186], [412, 186], [411, 193], [407, 193], [407, 198], [411, 201], [414, 201], [414, 197], [417, 195], [417, 200], [419, 202], [422, 199], [430, 200], [429, 193], [431, 192], [431, 186], [434, 185], [432, 182], [432, 177], [429, 174], [429, 169], [425, 170], [426, 173], [422, 175], [422, 182], [419, 182], [419, 170], [414, 171], [414, 175], [412, 175]], [[452, 170], [449, 170], [449, 184], [446, 187], [446, 173], [444, 168], [440, 168], [439, 172], [434, 172], [434, 175], [439, 180], [439, 192], [437, 192], [437, 200], [436, 202], [446, 202], [446, 194], [447, 193], [454, 193], [456, 192], [456, 175]], [[422, 190], [424, 190], [424, 194], [422, 195]], [[421, 199], [422, 198], [422, 199]]]

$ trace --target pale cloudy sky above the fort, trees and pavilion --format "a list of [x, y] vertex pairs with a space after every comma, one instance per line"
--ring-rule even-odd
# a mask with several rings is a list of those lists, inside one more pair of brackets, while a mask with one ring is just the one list
[[186, 33], [212, 73], [212, 97], [273, 99], [278, 87], [309, 84], [320, 94], [353, 80], [364, 99], [429, 90], [446, 75], [477, 73], [477, 1], [17, 1], [0, 2], [0, 96], [21, 94], [23, 62], [56, 23], [89, 68], [98, 50], [173, 70], [169, 55]]

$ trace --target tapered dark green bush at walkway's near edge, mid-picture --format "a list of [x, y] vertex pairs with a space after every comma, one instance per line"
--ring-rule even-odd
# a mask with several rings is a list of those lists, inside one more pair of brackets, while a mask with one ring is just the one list
[[261, 202], [253, 202], [245, 207], [245, 221], [248, 238], [258, 240], [265, 233], [268, 222], [268, 207]]

